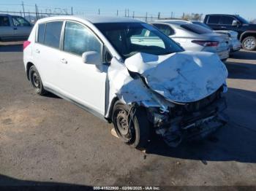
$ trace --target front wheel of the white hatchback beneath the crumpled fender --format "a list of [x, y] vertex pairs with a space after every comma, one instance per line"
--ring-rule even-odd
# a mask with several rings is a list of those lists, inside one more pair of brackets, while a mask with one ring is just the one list
[[[129, 115], [129, 116], [128, 116]], [[133, 107], [116, 101], [113, 106], [113, 125], [119, 138], [137, 149], [146, 148], [150, 138], [150, 122], [143, 107]]]

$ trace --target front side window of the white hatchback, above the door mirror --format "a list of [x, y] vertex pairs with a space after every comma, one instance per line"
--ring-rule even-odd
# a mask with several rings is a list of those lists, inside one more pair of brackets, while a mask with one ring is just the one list
[[85, 26], [67, 22], [64, 33], [64, 51], [82, 55], [83, 52], [96, 51], [101, 53], [102, 44]]

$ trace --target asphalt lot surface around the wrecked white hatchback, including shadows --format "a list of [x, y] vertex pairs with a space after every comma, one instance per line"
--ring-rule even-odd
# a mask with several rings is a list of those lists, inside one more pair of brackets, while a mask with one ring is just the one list
[[146, 152], [112, 125], [54, 95], [34, 93], [21, 45], [0, 46], [0, 185], [256, 186], [256, 52], [226, 63], [230, 122], [204, 141]]

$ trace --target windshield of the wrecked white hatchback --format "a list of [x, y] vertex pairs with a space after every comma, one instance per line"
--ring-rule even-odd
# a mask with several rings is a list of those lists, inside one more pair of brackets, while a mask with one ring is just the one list
[[124, 59], [138, 52], [167, 55], [184, 51], [176, 42], [147, 23], [97, 23], [95, 26]]

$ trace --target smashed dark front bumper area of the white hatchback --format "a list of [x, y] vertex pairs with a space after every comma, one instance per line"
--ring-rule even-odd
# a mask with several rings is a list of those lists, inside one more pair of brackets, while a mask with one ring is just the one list
[[219, 98], [200, 112], [171, 120], [170, 125], [157, 128], [156, 132], [170, 147], [177, 147], [181, 141], [203, 139], [227, 123], [228, 117], [223, 113], [226, 108], [225, 98]]

